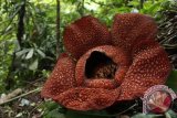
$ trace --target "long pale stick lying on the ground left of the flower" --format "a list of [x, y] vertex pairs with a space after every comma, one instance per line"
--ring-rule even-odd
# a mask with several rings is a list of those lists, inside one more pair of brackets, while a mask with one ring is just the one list
[[27, 95], [29, 95], [29, 94], [32, 94], [32, 93], [39, 93], [40, 90], [41, 90], [41, 87], [39, 87], [39, 88], [37, 88], [37, 89], [33, 89], [33, 90], [30, 90], [30, 92], [28, 92], [28, 93], [25, 93], [25, 94], [21, 94], [20, 96], [13, 97], [13, 98], [4, 101], [4, 103], [1, 103], [0, 105], [8, 104], [8, 103], [10, 103], [10, 101], [13, 101], [13, 100], [15, 100], [15, 99], [19, 99], [19, 98], [24, 97], [24, 96], [27, 96]]

